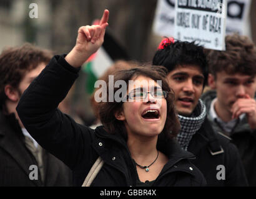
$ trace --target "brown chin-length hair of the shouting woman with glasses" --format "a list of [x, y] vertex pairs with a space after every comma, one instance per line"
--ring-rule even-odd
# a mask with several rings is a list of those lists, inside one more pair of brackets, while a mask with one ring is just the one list
[[[172, 139], [176, 137], [179, 129], [180, 123], [177, 118], [177, 113], [174, 108], [174, 92], [170, 90], [167, 81], [165, 80], [167, 75], [167, 70], [164, 67], [152, 67], [152, 66], [143, 66], [143, 67], [135, 67], [130, 70], [120, 70], [114, 74], [114, 84], [117, 80], [124, 80], [126, 85], [129, 85], [129, 80], [136, 78], [137, 76], [146, 76], [151, 78], [152, 80], [161, 80], [162, 81], [162, 90], [168, 91], [169, 95], [167, 95], [167, 118], [165, 121], [165, 126], [163, 131], [161, 132], [162, 137]], [[112, 86], [110, 86], [112, 87]], [[114, 90], [114, 91], [110, 91]], [[107, 83], [107, 99], [109, 99], [109, 93], [116, 93], [119, 88], [109, 88], [109, 83]], [[113, 95], [113, 94], [112, 94]], [[132, 103], [132, 102], [127, 102]], [[126, 128], [124, 126], [124, 121], [119, 121], [115, 117], [115, 113], [122, 110], [123, 102], [102, 102], [99, 104], [99, 116], [103, 126], [106, 131], [111, 134], [121, 134], [127, 138]], [[172, 132], [172, 133], [170, 133]]]

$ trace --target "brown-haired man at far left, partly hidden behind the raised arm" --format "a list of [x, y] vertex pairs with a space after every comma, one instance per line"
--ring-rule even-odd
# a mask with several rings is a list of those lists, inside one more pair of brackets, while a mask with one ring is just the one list
[[16, 112], [22, 93], [51, 57], [30, 44], [0, 55], [0, 187], [72, 185], [71, 170], [37, 144]]

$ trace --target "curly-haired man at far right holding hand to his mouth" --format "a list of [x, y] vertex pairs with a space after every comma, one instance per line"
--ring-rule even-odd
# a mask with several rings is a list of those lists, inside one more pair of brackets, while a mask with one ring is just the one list
[[256, 48], [242, 35], [227, 35], [226, 50], [205, 50], [208, 85], [202, 96], [215, 131], [239, 149], [250, 186], [256, 186]]

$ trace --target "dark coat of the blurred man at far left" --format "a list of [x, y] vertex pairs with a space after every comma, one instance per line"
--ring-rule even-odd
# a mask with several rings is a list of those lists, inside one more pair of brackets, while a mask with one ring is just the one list
[[[24, 134], [14, 114], [8, 116], [0, 112], [0, 187], [6, 186], [71, 186], [71, 170], [53, 155], [42, 151], [45, 181], [30, 180], [31, 165], [37, 165], [36, 159], [27, 149]], [[39, 168], [39, 167], [37, 167]]]

